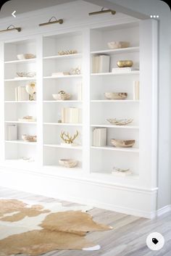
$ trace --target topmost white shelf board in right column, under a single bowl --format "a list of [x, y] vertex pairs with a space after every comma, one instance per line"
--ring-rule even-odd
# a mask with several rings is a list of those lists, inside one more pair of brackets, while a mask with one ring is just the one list
[[91, 54], [128, 54], [132, 52], [138, 52], [139, 46], [128, 47], [128, 48], [120, 48], [120, 49], [107, 49], [101, 51], [91, 51]]

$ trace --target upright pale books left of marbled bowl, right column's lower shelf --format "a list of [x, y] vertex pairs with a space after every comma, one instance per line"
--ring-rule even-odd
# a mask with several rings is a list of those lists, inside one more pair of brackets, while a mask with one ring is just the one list
[[107, 128], [93, 129], [93, 146], [107, 145]]

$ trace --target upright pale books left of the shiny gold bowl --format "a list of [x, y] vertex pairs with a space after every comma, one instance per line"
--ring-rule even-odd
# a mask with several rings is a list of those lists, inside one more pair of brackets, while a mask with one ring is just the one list
[[93, 56], [92, 72], [108, 73], [110, 69], [110, 57], [108, 55]]

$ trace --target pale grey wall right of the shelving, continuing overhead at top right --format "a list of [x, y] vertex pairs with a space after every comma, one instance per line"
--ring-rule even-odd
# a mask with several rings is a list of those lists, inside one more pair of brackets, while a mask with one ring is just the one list
[[[105, 1], [104, 1], [105, 2]], [[110, 0], [145, 15], [159, 15], [158, 209], [171, 204], [171, 12], [160, 0]]]

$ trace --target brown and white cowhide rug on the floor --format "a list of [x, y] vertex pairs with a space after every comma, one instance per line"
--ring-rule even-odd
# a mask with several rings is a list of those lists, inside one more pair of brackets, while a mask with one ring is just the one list
[[59, 249], [97, 250], [87, 232], [112, 227], [93, 221], [92, 207], [0, 198], [0, 256], [41, 255]]

